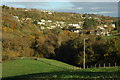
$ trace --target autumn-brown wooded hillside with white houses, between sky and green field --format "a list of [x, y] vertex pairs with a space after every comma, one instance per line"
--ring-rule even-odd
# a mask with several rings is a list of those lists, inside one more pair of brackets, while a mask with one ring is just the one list
[[119, 21], [95, 14], [2, 7], [2, 60], [40, 57], [83, 66], [120, 65]]

